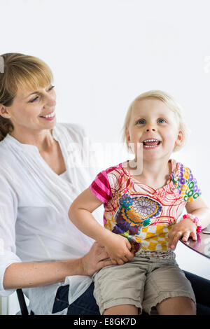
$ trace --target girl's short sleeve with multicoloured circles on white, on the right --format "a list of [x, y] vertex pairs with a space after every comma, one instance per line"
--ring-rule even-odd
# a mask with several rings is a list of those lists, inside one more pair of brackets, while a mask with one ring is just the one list
[[190, 204], [197, 197], [200, 197], [202, 191], [198, 186], [197, 179], [195, 178], [193, 172], [190, 168], [185, 167], [182, 164], [180, 165], [180, 172], [178, 178], [178, 189], [180, 195], [183, 197], [183, 200]]

